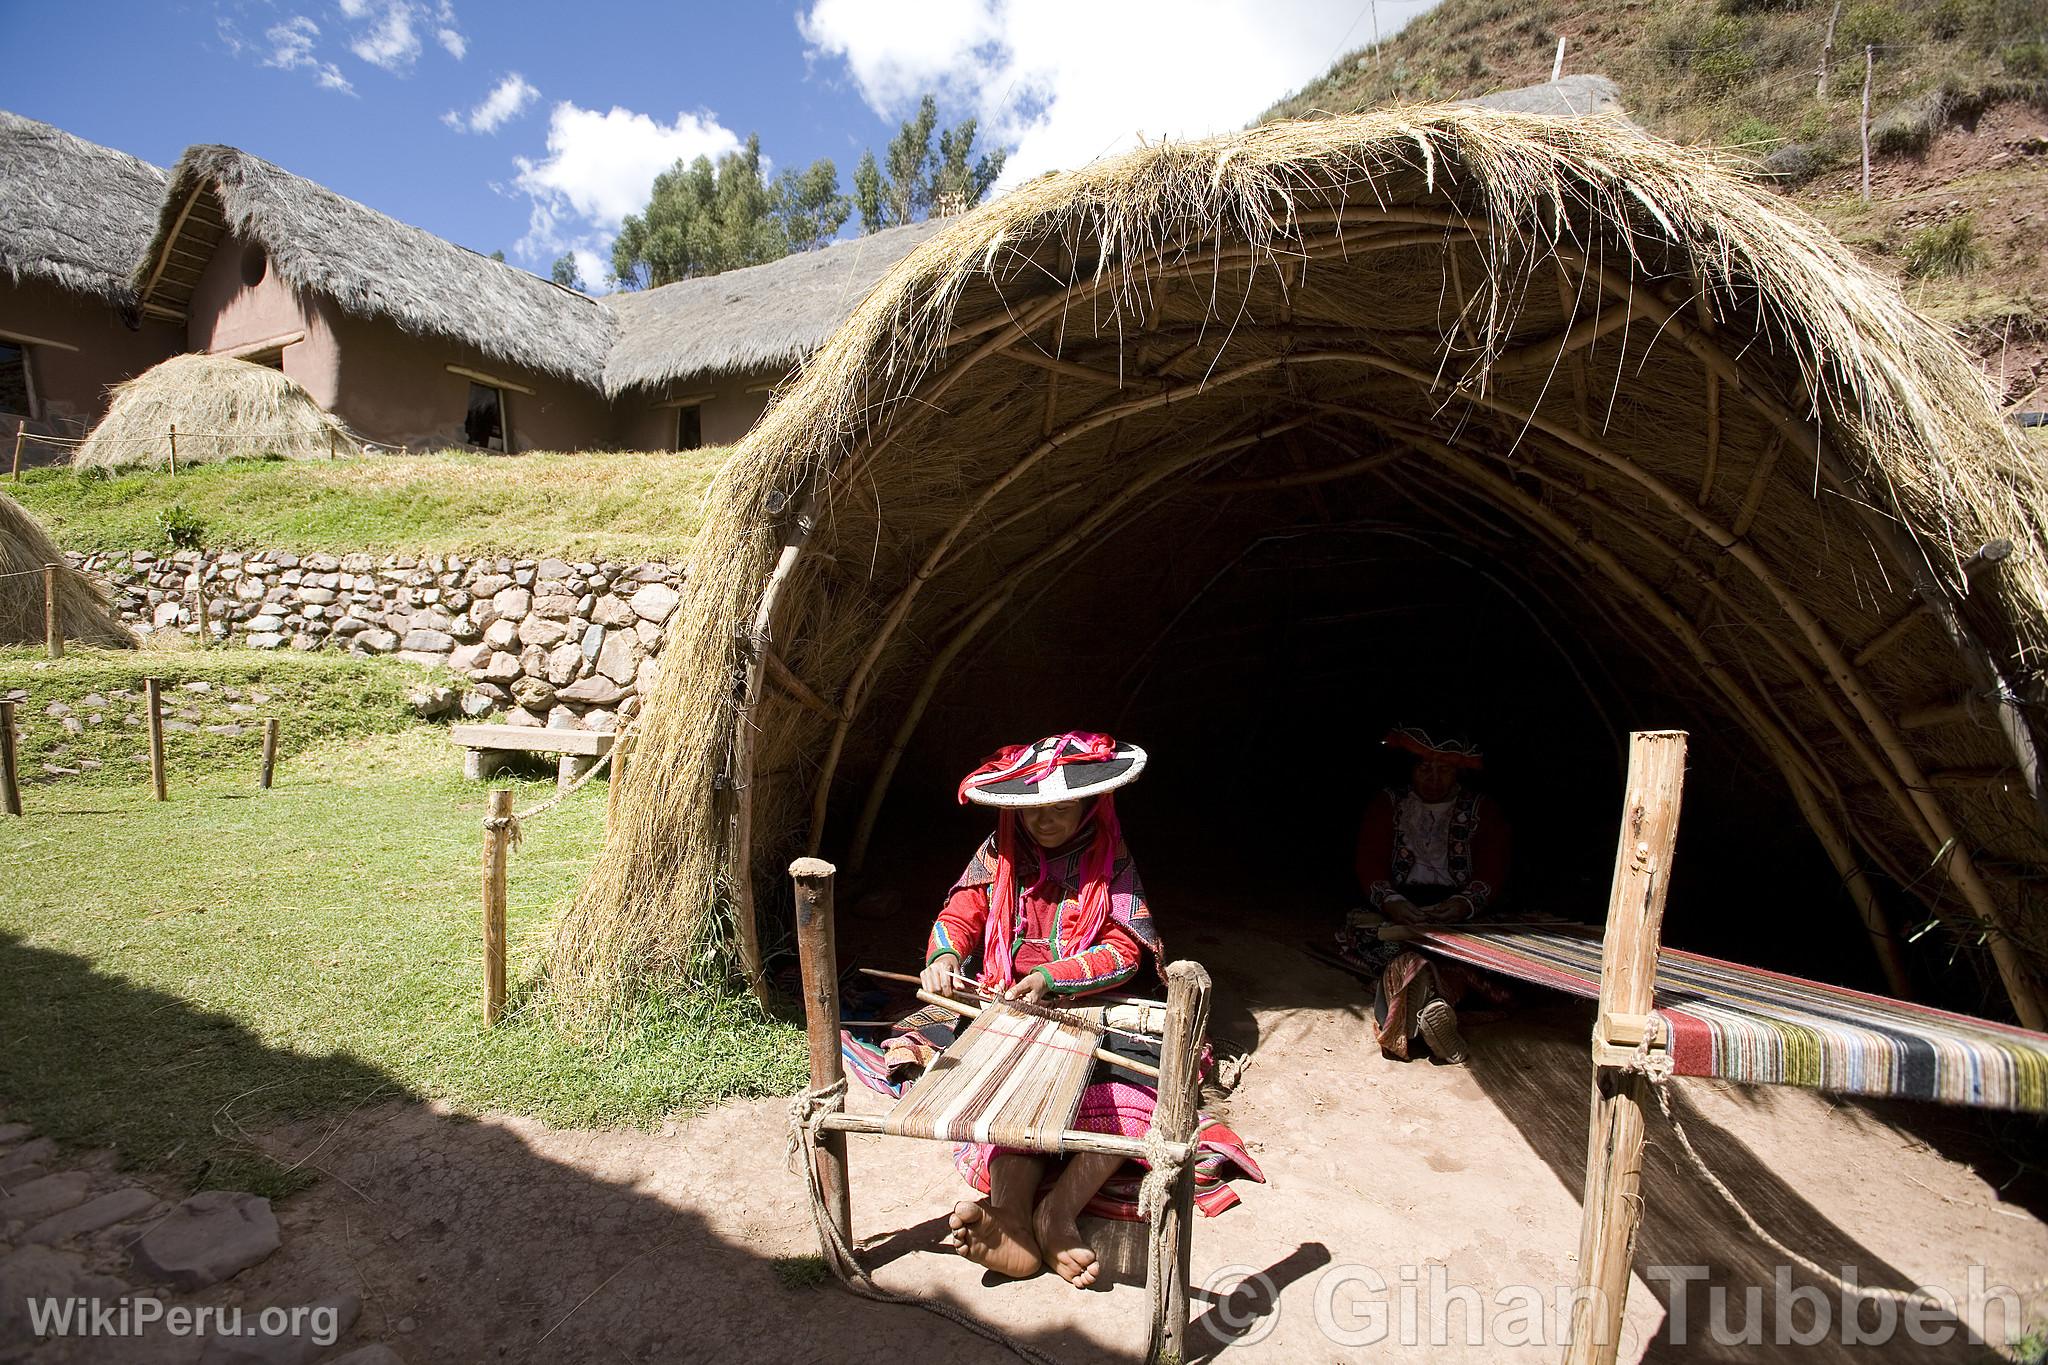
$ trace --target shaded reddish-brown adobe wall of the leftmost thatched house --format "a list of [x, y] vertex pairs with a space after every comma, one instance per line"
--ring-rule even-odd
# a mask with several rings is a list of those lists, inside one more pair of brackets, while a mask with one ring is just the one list
[[[106, 389], [150, 368], [178, 350], [178, 329], [143, 323], [131, 332], [121, 315], [92, 295], [78, 295], [45, 280], [8, 280], [0, 274], [0, 332], [63, 342], [29, 342], [29, 375], [35, 385], [35, 413], [0, 413], [0, 432], [29, 417], [31, 432], [78, 436], [106, 413]], [[8, 442], [12, 452], [12, 442]], [[59, 465], [66, 452], [29, 442], [23, 465]]]

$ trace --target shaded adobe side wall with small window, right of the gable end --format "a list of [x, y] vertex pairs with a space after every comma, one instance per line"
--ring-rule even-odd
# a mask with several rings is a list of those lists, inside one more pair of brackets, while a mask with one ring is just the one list
[[479, 375], [532, 389], [506, 389], [512, 450], [592, 450], [612, 442], [612, 413], [604, 397], [578, 385], [492, 360], [459, 342], [420, 338], [389, 319], [365, 321], [334, 311], [340, 354], [338, 397], [330, 411], [354, 432], [412, 448], [463, 446], [469, 413], [469, 379], [451, 375], [459, 364]]

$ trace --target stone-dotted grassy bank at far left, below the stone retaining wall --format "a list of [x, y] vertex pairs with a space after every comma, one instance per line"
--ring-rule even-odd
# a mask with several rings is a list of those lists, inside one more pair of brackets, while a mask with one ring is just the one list
[[14, 702], [29, 804], [49, 784], [150, 780], [145, 677], [162, 684], [172, 786], [193, 778], [254, 784], [266, 716], [279, 718], [279, 753], [289, 759], [326, 741], [403, 731], [418, 722], [410, 690], [426, 681], [461, 686], [451, 673], [434, 677], [399, 659], [72, 647], [51, 661], [39, 649], [4, 647], [0, 698]]

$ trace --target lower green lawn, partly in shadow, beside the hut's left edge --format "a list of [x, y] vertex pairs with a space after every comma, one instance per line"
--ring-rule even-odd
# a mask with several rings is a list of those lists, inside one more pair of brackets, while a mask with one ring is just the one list
[[195, 1189], [276, 1195], [311, 1177], [252, 1134], [379, 1099], [602, 1126], [803, 1083], [801, 1029], [745, 1001], [655, 1003], [604, 1048], [532, 1005], [602, 782], [522, 831], [512, 1013], [485, 1031], [485, 794], [459, 767], [444, 731], [414, 724], [313, 743], [270, 792], [225, 763], [162, 804], [145, 780], [31, 790], [25, 819], [0, 817], [8, 1117]]

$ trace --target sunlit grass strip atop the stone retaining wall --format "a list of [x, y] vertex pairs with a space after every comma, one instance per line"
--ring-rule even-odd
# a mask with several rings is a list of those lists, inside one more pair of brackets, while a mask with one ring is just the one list
[[682, 559], [729, 448], [223, 460], [178, 475], [31, 469], [6, 491], [68, 551], [164, 548], [170, 508], [207, 546], [295, 553]]

